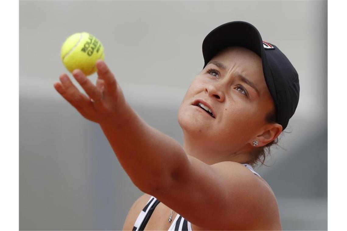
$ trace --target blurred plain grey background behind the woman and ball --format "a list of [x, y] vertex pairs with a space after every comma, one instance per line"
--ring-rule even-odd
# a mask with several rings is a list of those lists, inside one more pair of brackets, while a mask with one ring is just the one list
[[203, 67], [202, 41], [233, 20], [255, 25], [300, 79], [291, 133], [256, 170], [283, 230], [327, 230], [327, 1], [20, 1], [20, 230], [121, 230], [142, 195], [99, 125], [53, 88], [69, 35], [98, 37], [130, 105], [182, 144], [177, 110]]

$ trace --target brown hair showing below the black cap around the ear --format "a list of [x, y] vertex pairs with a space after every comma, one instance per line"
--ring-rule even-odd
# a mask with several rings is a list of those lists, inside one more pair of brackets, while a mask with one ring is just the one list
[[[272, 110], [271, 112], [268, 112], [265, 116], [265, 122], [266, 123], [277, 123], [276, 122], [276, 111]], [[270, 143], [259, 147], [259, 148], [255, 148], [252, 152], [251, 152], [251, 157], [252, 159], [249, 161], [249, 164], [255, 168], [257, 166], [257, 168], [260, 168], [261, 166], [265, 165], [265, 158], [267, 156], [270, 156], [270, 147], [272, 145], [278, 145], [278, 141], [279, 138], [276, 137], [276, 139], [274, 139], [273, 141], [271, 141]], [[259, 164], [261, 164], [260, 166], [258, 166]], [[269, 167], [268, 165], [265, 165], [267, 167]]]

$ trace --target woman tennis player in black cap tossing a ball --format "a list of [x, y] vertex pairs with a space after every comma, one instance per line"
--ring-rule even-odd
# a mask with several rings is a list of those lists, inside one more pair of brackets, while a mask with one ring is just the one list
[[202, 50], [203, 69], [178, 110], [183, 146], [137, 115], [101, 60], [96, 86], [80, 70], [73, 72], [87, 95], [66, 74], [54, 88], [100, 124], [121, 166], [144, 192], [124, 230], [281, 230], [276, 197], [253, 168], [295, 112], [298, 74], [246, 22], [215, 28]]

